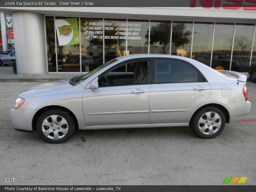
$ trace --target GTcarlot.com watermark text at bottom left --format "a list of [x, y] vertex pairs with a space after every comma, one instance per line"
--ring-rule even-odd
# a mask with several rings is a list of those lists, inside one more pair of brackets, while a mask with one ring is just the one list
[[5, 183], [62, 183], [62, 179], [20, 179], [16, 177], [6, 177]]

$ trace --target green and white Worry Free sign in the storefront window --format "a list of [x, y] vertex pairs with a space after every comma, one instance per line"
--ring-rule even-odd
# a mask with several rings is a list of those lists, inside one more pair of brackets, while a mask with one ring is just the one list
[[79, 29], [76, 18], [57, 19], [56, 31], [60, 46], [80, 43]]

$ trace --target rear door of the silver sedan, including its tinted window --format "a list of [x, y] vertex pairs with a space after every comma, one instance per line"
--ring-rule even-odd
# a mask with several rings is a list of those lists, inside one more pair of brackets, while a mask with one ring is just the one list
[[150, 123], [186, 123], [191, 111], [210, 97], [210, 84], [182, 60], [159, 58], [153, 68]]

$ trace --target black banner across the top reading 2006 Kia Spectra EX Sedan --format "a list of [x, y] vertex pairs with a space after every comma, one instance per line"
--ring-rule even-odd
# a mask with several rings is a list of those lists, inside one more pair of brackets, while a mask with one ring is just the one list
[[206, 7], [256, 10], [255, 0], [0, 0], [0, 7]]

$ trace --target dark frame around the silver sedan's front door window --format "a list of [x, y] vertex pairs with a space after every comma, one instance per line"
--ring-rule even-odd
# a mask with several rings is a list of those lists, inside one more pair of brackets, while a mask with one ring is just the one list
[[99, 88], [104, 88], [104, 87], [119, 87], [119, 86], [132, 86], [132, 85], [146, 85], [146, 84], [151, 84], [151, 79], [152, 79], [152, 70], [153, 70], [153, 60], [154, 58], [152, 57], [144, 57], [144, 58], [136, 58], [136, 59], [129, 59], [129, 60], [125, 60], [123, 62], [120, 62], [118, 64], [116, 64], [115, 66], [107, 69], [106, 71], [104, 71], [103, 73], [101, 73], [99, 76], [98, 76], [98, 80], [105, 76], [108, 72], [122, 66], [122, 65], [125, 65], [125, 64], [128, 64], [128, 63], [132, 63], [132, 62], [136, 62], [136, 61], [148, 61], [148, 74], [147, 74], [147, 81], [146, 83], [143, 83], [143, 84], [130, 84], [130, 85], [107, 85], [107, 86], [102, 86], [102, 87], [99, 87]]

